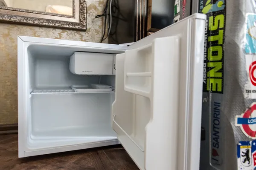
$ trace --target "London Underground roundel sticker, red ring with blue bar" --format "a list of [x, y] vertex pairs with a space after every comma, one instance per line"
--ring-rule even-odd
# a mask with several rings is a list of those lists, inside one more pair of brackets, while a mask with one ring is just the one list
[[236, 116], [236, 126], [240, 126], [248, 138], [256, 139], [256, 102], [244, 113]]

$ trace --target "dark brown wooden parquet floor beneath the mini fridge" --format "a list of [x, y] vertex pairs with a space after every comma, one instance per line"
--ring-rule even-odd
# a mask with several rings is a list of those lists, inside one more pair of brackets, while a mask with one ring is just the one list
[[121, 145], [18, 158], [18, 137], [0, 135], [0, 170], [139, 170]]

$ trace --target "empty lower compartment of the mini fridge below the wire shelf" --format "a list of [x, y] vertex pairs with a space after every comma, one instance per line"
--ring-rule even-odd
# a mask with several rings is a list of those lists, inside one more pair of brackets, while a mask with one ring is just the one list
[[114, 93], [45, 93], [30, 100], [29, 150], [117, 139], [111, 128]]

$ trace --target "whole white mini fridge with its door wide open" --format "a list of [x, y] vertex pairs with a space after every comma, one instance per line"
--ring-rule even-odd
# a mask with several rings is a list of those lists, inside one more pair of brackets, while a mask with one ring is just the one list
[[130, 45], [18, 37], [18, 156], [122, 144], [141, 170], [198, 170], [204, 26]]

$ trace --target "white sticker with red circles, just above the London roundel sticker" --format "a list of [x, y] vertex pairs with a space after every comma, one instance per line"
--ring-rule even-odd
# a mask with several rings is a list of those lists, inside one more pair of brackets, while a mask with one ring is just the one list
[[244, 98], [256, 98], [256, 55], [245, 55], [247, 83], [244, 86]]

